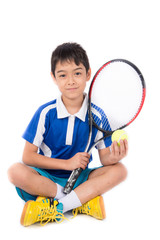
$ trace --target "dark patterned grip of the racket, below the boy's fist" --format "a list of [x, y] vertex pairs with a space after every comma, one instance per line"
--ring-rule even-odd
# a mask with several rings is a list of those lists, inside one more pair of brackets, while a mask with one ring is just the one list
[[82, 168], [77, 168], [77, 169], [72, 171], [72, 173], [71, 173], [71, 175], [70, 175], [70, 177], [69, 177], [69, 179], [68, 179], [68, 181], [67, 181], [67, 183], [64, 187], [63, 193], [68, 194], [68, 193], [71, 192], [71, 190], [74, 187], [74, 184], [76, 183], [76, 181], [77, 181], [79, 175], [81, 174], [82, 170], [83, 170]]

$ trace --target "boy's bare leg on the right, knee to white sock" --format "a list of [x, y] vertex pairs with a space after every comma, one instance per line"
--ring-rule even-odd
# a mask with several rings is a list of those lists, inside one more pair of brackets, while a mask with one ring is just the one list
[[105, 166], [91, 172], [89, 179], [74, 191], [81, 203], [84, 204], [96, 196], [107, 192], [125, 180], [126, 176], [126, 168], [121, 163]]

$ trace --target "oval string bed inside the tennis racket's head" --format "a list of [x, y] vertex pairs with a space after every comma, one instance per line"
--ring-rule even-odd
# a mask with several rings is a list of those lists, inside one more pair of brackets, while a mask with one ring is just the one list
[[108, 130], [108, 125], [112, 131], [122, 128], [135, 119], [142, 107], [141, 75], [125, 62], [112, 62], [98, 72], [90, 95], [98, 112], [93, 110], [92, 114], [96, 115], [93, 116], [96, 124], [101, 124], [104, 130]]

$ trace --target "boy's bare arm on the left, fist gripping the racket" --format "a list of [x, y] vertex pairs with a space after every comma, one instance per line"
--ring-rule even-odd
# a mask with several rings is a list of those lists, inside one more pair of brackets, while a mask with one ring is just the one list
[[68, 160], [56, 159], [38, 154], [37, 151], [37, 146], [26, 141], [23, 151], [23, 162], [26, 165], [44, 169], [74, 170], [79, 167], [85, 169], [90, 157], [87, 153], [77, 153]]

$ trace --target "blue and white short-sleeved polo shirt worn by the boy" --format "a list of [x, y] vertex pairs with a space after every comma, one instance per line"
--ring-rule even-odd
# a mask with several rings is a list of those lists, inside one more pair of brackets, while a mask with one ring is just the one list
[[[42, 105], [34, 114], [23, 138], [39, 148], [39, 154], [51, 158], [69, 159], [78, 152], [84, 152], [88, 135], [88, 97], [85, 96], [83, 105], [78, 113], [71, 115], [65, 108], [61, 97]], [[94, 113], [99, 115], [96, 108]], [[110, 127], [108, 127], [110, 130]], [[91, 145], [102, 133], [95, 127], [92, 130]], [[99, 142], [97, 149], [111, 145], [111, 138]], [[92, 156], [90, 158], [92, 161]], [[50, 174], [68, 178], [71, 171], [45, 169]]]

